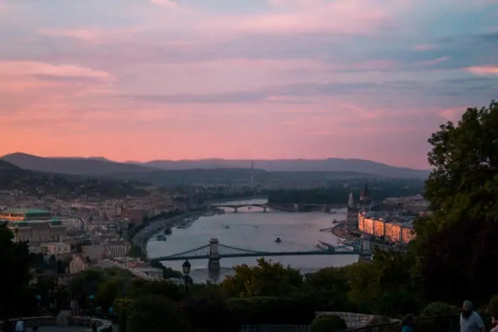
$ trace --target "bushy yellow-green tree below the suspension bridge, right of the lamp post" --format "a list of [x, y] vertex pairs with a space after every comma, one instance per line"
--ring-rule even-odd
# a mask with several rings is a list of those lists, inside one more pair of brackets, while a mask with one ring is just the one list
[[280, 263], [258, 259], [258, 265], [238, 265], [235, 275], [223, 280], [221, 287], [229, 296], [287, 296], [303, 285], [299, 270]]

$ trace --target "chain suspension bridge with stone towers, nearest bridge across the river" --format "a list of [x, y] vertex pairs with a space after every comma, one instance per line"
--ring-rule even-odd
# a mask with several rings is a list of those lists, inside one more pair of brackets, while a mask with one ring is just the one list
[[179, 252], [178, 254], [174, 255], [152, 258], [151, 260], [159, 262], [169, 262], [189, 259], [208, 259], [208, 269], [210, 271], [218, 271], [220, 269], [221, 258], [310, 255], [370, 255], [369, 248], [369, 243], [367, 245], [364, 245], [364, 242], [356, 242], [353, 245], [329, 245], [327, 249], [266, 252], [231, 247], [229, 245], [221, 245], [218, 242], [218, 239], [211, 239], [209, 240], [208, 245], [203, 245], [191, 250]]

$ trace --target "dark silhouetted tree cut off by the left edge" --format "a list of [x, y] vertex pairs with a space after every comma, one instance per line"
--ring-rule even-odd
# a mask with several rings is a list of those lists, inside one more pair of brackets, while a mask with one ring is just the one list
[[25, 314], [36, 304], [34, 294], [28, 291], [31, 279], [29, 274], [28, 245], [25, 242], [13, 242], [14, 234], [6, 224], [0, 225], [0, 318]]

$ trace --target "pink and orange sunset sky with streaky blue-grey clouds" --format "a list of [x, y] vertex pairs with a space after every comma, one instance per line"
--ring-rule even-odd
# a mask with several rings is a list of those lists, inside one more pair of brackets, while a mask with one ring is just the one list
[[498, 0], [0, 0], [0, 155], [361, 158], [498, 99]]

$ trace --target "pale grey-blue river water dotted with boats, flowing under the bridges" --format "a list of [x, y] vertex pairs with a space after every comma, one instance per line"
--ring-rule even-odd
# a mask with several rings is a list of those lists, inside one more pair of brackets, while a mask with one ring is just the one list
[[[238, 200], [228, 204], [266, 203], [266, 200]], [[174, 255], [202, 245], [208, 245], [209, 239], [217, 238], [220, 245], [229, 245], [241, 249], [280, 252], [317, 250], [314, 245], [319, 240], [337, 244], [337, 237], [332, 232], [320, 232], [320, 229], [332, 227], [332, 220], [346, 219], [346, 209], [333, 210], [335, 213], [286, 213], [269, 210], [263, 213], [261, 208], [240, 208], [238, 213], [226, 209], [223, 215], [201, 217], [186, 229], [173, 229], [171, 235], [166, 235], [166, 241], [150, 240], [147, 253], [150, 258]], [[228, 226], [228, 227], [227, 227]], [[275, 243], [275, 237], [282, 239]], [[223, 248], [220, 248], [223, 253]], [[232, 274], [234, 265], [257, 264], [258, 257], [222, 258], [221, 271], [218, 274], [208, 274], [208, 260], [190, 260], [192, 264], [191, 277], [194, 282], [212, 280], [217, 282], [226, 275]], [[330, 266], [344, 266], [358, 260], [358, 255], [317, 255], [317, 256], [279, 256], [265, 257], [273, 262], [300, 269], [302, 273], [313, 272]], [[167, 267], [181, 271], [183, 262], [164, 262]]]

